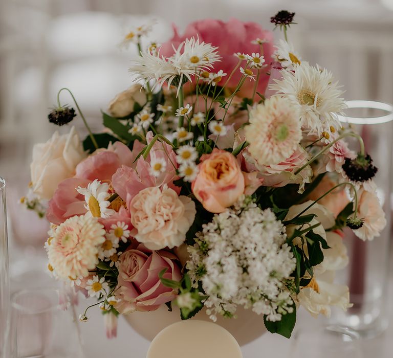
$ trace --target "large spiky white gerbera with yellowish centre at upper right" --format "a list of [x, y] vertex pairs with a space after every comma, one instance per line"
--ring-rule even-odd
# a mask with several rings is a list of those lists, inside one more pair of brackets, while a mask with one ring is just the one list
[[331, 72], [302, 62], [296, 71], [282, 71], [282, 80], [274, 80], [270, 89], [286, 98], [299, 111], [302, 128], [320, 136], [323, 131], [341, 127], [337, 115], [346, 108]]

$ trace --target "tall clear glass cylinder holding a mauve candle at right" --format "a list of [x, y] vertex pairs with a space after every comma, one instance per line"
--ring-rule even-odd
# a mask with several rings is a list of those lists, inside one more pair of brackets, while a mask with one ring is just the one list
[[[393, 106], [376, 101], [348, 101], [343, 126], [351, 126], [362, 136], [365, 150], [374, 160], [378, 172], [374, 181], [386, 215], [386, 227], [379, 237], [362, 241], [345, 230], [344, 242], [350, 264], [337, 273], [341, 283], [350, 288], [354, 306], [346, 312], [333, 311], [334, 323], [356, 330], [363, 338], [373, 338], [387, 327], [387, 288], [389, 244], [391, 237], [391, 185], [393, 151]], [[358, 150], [356, 141], [351, 149]]]

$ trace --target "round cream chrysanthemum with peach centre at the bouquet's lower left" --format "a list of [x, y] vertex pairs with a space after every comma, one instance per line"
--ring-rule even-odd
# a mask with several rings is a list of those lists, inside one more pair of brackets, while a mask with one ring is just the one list
[[49, 263], [62, 278], [86, 277], [98, 263], [105, 230], [97, 218], [73, 216], [55, 230], [48, 247]]

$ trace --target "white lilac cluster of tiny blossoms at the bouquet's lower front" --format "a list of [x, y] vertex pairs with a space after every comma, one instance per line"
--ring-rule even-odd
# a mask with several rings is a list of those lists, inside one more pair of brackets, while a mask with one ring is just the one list
[[204, 305], [216, 315], [233, 317], [238, 305], [279, 321], [292, 312], [293, 301], [283, 281], [296, 266], [285, 243], [285, 227], [270, 209], [250, 198], [216, 214], [189, 247], [187, 263], [194, 286], [201, 281], [208, 295]]

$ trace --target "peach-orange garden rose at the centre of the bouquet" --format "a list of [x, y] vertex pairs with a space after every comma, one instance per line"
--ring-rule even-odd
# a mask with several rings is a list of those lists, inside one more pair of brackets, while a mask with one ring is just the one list
[[244, 193], [245, 178], [236, 158], [215, 148], [211, 154], [201, 156], [191, 189], [207, 211], [222, 213]]

